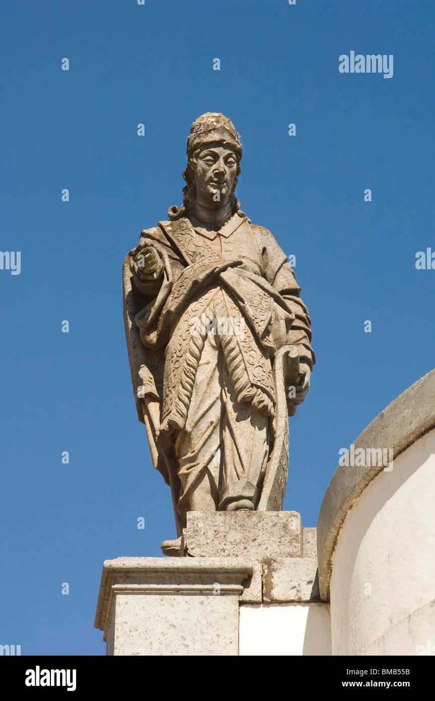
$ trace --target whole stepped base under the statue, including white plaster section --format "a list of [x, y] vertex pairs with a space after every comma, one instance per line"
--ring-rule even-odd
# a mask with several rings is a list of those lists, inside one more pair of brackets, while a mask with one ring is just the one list
[[184, 557], [104, 562], [107, 654], [331, 654], [315, 531], [297, 512], [191, 512]]

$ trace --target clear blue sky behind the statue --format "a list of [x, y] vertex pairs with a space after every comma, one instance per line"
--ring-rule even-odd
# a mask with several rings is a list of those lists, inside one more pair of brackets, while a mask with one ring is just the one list
[[[296, 255], [312, 318], [284, 508], [315, 526], [339, 449], [434, 367], [435, 270], [415, 268], [435, 252], [434, 20], [429, 1], [4, 4], [0, 248], [21, 272], [0, 270], [0, 644], [104, 654], [104, 559], [160, 556], [175, 535], [134, 407], [121, 266], [181, 203], [200, 114], [240, 132], [242, 210]], [[392, 79], [341, 74], [351, 50], [394, 55]]]

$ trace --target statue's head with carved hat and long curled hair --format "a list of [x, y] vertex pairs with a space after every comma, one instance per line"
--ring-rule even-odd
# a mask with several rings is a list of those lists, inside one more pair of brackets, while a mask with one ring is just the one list
[[222, 207], [230, 202], [236, 212], [240, 203], [235, 196], [240, 175], [242, 144], [233, 122], [223, 114], [207, 112], [192, 124], [187, 139], [187, 168], [183, 177], [183, 205], [170, 207], [170, 219], [184, 217], [195, 201], [205, 207]]

